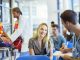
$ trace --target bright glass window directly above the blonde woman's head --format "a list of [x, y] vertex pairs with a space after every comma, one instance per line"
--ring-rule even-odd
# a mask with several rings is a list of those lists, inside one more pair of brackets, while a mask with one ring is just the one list
[[35, 7], [32, 7], [31, 14], [32, 14], [32, 20], [33, 20], [33, 30], [35, 30], [40, 23], [48, 22], [47, 20], [48, 12], [47, 12], [46, 4], [37, 4], [35, 5]]

